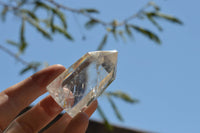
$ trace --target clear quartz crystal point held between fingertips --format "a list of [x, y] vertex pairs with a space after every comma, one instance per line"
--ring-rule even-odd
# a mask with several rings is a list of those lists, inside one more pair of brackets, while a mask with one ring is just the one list
[[116, 50], [88, 52], [51, 82], [47, 90], [74, 117], [115, 79], [117, 54]]

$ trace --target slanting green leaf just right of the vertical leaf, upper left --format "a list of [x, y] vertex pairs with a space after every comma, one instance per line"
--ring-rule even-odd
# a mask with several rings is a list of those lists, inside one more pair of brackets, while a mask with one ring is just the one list
[[45, 31], [42, 27], [40, 27], [39, 23], [30, 19], [27, 19], [27, 21], [33, 26], [35, 27], [44, 37], [46, 37], [47, 39], [52, 40], [51, 35]]

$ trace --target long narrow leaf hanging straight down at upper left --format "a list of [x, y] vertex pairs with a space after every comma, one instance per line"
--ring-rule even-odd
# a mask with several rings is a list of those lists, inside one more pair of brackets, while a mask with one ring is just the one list
[[25, 20], [22, 19], [21, 30], [20, 30], [20, 47], [19, 47], [19, 51], [21, 53], [23, 53], [27, 47], [27, 43], [24, 37], [24, 29], [25, 29]]

